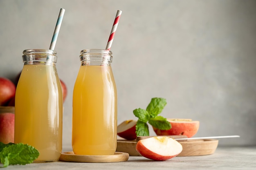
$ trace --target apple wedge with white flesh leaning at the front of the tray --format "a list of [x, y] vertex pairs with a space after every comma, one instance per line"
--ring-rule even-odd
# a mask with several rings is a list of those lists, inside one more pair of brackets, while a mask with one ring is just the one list
[[136, 150], [144, 157], [165, 161], [182, 152], [182, 145], [171, 137], [150, 137], [137, 142]]

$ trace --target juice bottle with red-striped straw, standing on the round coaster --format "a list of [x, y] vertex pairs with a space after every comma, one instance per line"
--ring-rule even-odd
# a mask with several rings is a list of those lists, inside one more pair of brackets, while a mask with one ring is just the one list
[[113, 155], [117, 148], [117, 90], [112, 52], [81, 51], [73, 91], [72, 148], [78, 155]]

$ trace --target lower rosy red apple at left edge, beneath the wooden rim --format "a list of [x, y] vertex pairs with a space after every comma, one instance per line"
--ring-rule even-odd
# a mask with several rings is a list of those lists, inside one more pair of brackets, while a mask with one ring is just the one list
[[14, 142], [14, 114], [0, 113], [0, 142]]

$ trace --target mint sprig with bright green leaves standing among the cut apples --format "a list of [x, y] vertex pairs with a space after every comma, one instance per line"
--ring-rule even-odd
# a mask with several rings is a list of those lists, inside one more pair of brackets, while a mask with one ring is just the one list
[[133, 114], [139, 118], [136, 124], [137, 136], [149, 136], [147, 122], [161, 130], [168, 130], [171, 128], [171, 124], [166, 118], [157, 116], [162, 112], [166, 104], [166, 99], [155, 97], [151, 99], [146, 110], [142, 108], [133, 110]]

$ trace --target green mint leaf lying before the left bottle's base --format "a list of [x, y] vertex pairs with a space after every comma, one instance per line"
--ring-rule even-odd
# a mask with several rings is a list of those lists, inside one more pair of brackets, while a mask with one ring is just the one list
[[19, 143], [3, 148], [0, 152], [0, 161], [4, 167], [16, 164], [25, 165], [32, 163], [38, 156], [39, 152], [36, 148]]

